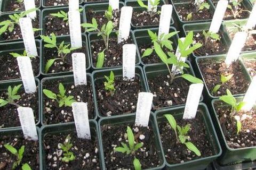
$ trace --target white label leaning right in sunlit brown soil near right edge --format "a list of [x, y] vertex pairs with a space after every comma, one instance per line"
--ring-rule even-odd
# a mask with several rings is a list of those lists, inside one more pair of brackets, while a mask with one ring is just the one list
[[230, 65], [233, 61], [236, 61], [244, 47], [247, 38], [246, 32], [237, 32], [233, 38], [233, 41], [229, 47], [228, 54], [226, 56], [225, 63]]

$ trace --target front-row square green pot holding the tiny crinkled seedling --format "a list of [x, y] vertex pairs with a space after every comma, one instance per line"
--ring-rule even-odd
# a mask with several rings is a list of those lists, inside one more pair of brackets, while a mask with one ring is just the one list
[[[95, 120], [90, 120], [90, 132], [91, 136], [97, 138], [98, 146], [99, 146], [99, 160], [100, 160], [100, 168], [105, 169], [104, 164], [103, 164], [103, 153], [102, 153], [102, 144], [99, 141], [99, 128], [98, 124]], [[46, 169], [46, 163], [45, 163], [45, 151], [44, 151], [44, 138], [47, 134], [59, 134], [59, 133], [76, 133], [76, 126], [75, 123], [66, 123], [66, 124], [55, 124], [55, 125], [46, 125], [42, 126], [40, 129], [40, 134], [41, 134], [41, 140], [39, 141], [39, 146], [40, 146], [40, 164], [42, 165], [40, 170], [45, 170]]]

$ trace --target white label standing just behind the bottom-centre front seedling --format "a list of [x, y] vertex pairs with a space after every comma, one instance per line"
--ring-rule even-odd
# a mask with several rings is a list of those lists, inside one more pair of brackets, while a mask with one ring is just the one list
[[139, 93], [135, 125], [148, 126], [152, 102], [153, 102], [153, 94], [151, 94], [151, 92]]

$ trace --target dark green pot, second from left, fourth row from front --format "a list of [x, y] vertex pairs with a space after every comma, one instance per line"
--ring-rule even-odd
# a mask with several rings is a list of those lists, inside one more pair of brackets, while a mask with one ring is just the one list
[[[83, 8], [83, 6], [79, 6], [79, 8]], [[47, 18], [47, 16], [49, 16], [51, 13], [58, 13], [60, 11], [64, 11], [64, 12], [67, 12], [68, 13], [68, 6], [66, 7], [54, 7], [54, 8], [45, 8], [42, 10], [42, 20], [41, 20], [41, 34], [42, 35], [45, 35], [45, 29], [44, 29], [44, 25], [45, 25], [45, 20]], [[84, 10], [82, 12], [80, 12], [80, 19], [81, 19], [81, 23], [84, 23], [85, 22], [85, 19], [84, 19]], [[82, 30], [81, 30], [82, 31]], [[82, 31], [83, 33], [83, 31]], [[67, 36], [67, 35], [65, 35]]]

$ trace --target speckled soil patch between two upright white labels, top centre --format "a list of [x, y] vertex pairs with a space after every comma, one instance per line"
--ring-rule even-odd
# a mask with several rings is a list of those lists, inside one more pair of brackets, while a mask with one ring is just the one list
[[150, 15], [148, 11], [134, 11], [132, 13], [132, 24], [134, 26], [158, 25], [160, 13]]

